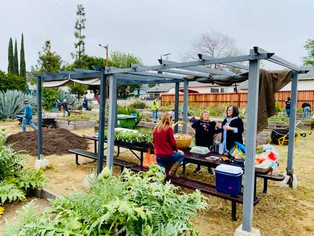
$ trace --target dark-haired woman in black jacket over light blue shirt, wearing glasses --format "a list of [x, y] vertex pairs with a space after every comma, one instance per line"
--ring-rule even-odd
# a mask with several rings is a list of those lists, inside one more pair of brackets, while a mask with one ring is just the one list
[[222, 131], [221, 143], [224, 147], [224, 152], [229, 151], [235, 145], [235, 142], [243, 144], [243, 121], [241, 118], [238, 118], [238, 115], [237, 107], [234, 105], [229, 106], [227, 108], [227, 118], [224, 119], [219, 127]]

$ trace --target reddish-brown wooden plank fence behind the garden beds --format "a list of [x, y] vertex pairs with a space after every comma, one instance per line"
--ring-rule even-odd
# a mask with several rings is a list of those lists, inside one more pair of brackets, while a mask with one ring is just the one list
[[[279, 102], [280, 107], [285, 108], [285, 100], [291, 97], [291, 91], [279, 91], [275, 93], [275, 100]], [[183, 94], [179, 96], [180, 104], [183, 103]], [[216, 107], [226, 104], [234, 104], [237, 107], [247, 106], [247, 92], [220, 92], [220, 93], [190, 93], [188, 94], [189, 107]], [[299, 90], [298, 91], [298, 107], [301, 107], [303, 102], [311, 104], [314, 107], [314, 90]], [[164, 93], [161, 95], [161, 105], [174, 105], [175, 94]]]

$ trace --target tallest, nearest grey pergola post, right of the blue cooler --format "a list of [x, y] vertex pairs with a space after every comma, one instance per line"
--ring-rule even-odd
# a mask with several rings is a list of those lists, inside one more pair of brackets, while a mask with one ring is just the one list
[[[255, 55], [254, 50], [250, 50], [250, 55]], [[253, 201], [254, 201], [254, 182], [255, 182], [255, 148], [257, 136], [257, 118], [259, 102], [260, 84], [260, 61], [250, 60], [249, 64], [249, 88], [247, 98], [247, 128], [246, 128], [246, 152], [244, 169], [244, 190], [243, 190], [243, 210], [242, 210], [242, 229], [241, 226], [235, 231], [251, 232], [253, 221]], [[256, 231], [256, 230], [255, 230]], [[259, 232], [258, 232], [259, 233]], [[258, 235], [258, 234], [255, 234]]]

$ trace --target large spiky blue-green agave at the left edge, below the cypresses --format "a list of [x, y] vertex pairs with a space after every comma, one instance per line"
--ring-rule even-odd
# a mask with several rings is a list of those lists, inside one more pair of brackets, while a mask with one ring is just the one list
[[36, 98], [21, 90], [0, 91], [0, 119], [15, 118], [24, 111], [23, 100], [27, 100], [33, 110], [37, 108]]

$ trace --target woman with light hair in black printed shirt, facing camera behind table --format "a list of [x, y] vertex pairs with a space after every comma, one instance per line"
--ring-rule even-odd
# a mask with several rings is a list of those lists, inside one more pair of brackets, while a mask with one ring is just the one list
[[[195, 130], [195, 143], [196, 146], [210, 148], [210, 146], [213, 144], [213, 139], [220, 131], [215, 128], [216, 122], [210, 121], [208, 111], [202, 111], [200, 118], [201, 120], [198, 120], [192, 124], [192, 128]], [[195, 174], [199, 172], [201, 172], [200, 165], [198, 165], [194, 170]], [[212, 174], [210, 167], [208, 168], [208, 173]]]

